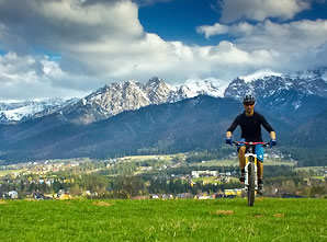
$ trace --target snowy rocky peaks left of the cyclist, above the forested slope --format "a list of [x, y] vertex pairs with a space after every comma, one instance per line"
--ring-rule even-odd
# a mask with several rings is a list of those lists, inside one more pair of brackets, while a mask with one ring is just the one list
[[21, 123], [58, 112], [71, 123], [90, 124], [124, 111], [173, 103], [199, 94], [223, 96], [226, 88], [226, 83], [218, 79], [187, 80], [180, 87], [172, 87], [157, 77], [146, 84], [129, 80], [108, 84], [82, 99], [0, 103], [0, 124]]

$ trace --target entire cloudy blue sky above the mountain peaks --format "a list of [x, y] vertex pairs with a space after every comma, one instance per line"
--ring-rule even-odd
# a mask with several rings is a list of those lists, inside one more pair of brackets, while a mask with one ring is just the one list
[[0, 101], [327, 66], [327, 0], [0, 0]]

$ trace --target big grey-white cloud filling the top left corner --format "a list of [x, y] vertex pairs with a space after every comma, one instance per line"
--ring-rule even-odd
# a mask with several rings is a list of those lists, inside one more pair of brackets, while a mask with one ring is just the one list
[[24, 43], [25, 50], [40, 45], [57, 51], [81, 51], [84, 45], [127, 44], [142, 38], [137, 5], [127, 0], [112, 2], [0, 0], [1, 34], [7, 36], [1, 45], [10, 50]]

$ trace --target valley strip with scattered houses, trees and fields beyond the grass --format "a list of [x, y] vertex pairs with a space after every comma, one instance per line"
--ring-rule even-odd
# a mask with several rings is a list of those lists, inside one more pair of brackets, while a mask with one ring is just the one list
[[[0, 195], [21, 199], [241, 196], [237, 159], [213, 160], [214, 155], [190, 152], [1, 165]], [[324, 197], [327, 192], [326, 168], [302, 169], [281, 158], [267, 159], [264, 181], [268, 197]]]

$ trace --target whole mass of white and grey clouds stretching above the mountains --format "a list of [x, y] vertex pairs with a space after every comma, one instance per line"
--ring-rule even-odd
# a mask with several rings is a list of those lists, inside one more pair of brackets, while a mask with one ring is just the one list
[[312, 65], [326, 60], [323, 20], [217, 23], [198, 32], [235, 41], [165, 42], [144, 31], [138, 5], [129, 0], [0, 0], [0, 49], [8, 51], [0, 54], [0, 96], [81, 96], [109, 82], [144, 82], [153, 76], [174, 83], [210, 77], [230, 81], [262, 68], [282, 71], [305, 68], [307, 59]]

